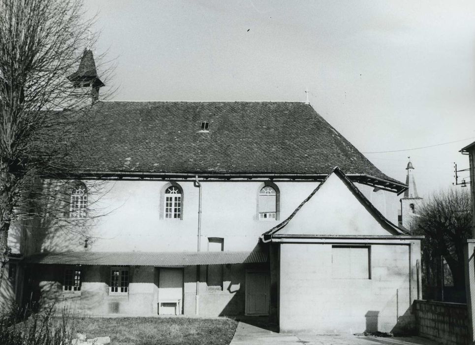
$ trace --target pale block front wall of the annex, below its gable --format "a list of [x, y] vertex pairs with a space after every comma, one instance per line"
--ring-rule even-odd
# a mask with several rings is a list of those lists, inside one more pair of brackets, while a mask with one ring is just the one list
[[371, 279], [332, 277], [332, 244], [283, 243], [280, 329], [354, 334], [413, 325], [409, 245], [371, 245]]

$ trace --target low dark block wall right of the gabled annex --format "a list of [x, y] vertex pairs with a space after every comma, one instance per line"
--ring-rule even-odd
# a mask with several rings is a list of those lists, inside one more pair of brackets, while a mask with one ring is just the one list
[[466, 304], [436, 301], [414, 301], [417, 332], [443, 345], [469, 343]]

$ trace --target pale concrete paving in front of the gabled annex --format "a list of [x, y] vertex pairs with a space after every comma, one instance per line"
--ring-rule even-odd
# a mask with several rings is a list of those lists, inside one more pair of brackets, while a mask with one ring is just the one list
[[313, 335], [276, 333], [271, 330], [239, 322], [230, 345], [436, 345], [419, 337], [356, 337], [352, 335]]

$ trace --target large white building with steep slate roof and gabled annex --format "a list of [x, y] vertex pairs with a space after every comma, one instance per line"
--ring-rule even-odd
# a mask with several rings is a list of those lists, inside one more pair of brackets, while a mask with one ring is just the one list
[[64, 227], [12, 232], [23, 302], [269, 316], [281, 331], [413, 326], [420, 238], [388, 207], [407, 185], [311, 105], [94, 100], [91, 111], [100, 131], [77, 150]]

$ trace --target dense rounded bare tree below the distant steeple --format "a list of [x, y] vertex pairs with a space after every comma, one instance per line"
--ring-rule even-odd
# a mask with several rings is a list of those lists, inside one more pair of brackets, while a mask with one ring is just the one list
[[465, 289], [464, 245], [472, 234], [470, 194], [463, 189], [441, 191], [427, 199], [415, 218], [415, 233], [426, 238], [422, 243], [422, 260], [428, 282], [442, 285], [445, 259], [456, 290]]

